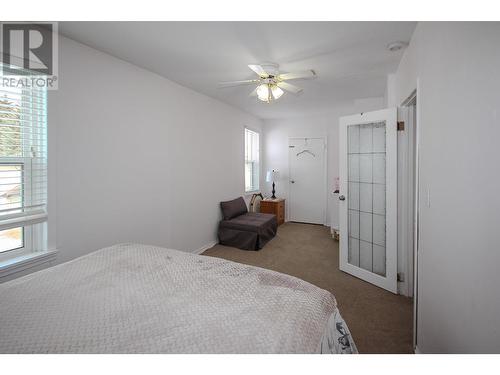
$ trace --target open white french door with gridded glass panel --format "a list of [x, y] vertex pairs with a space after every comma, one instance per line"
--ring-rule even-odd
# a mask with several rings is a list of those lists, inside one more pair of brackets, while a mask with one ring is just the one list
[[340, 269], [397, 292], [397, 110], [340, 118]]

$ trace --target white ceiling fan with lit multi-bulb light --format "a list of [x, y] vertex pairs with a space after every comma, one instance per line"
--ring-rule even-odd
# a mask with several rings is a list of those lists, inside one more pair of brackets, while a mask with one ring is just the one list
[[294, 95], [302, 93], [302, 89], [286, 81], [294, 79], [311, 79], [316, 77], [314, 70], [305, 70], [295, 73], [280, 73], [278, 64], [266, 63], [260, 65], [248, 65], [259, 78], [247, 79], [243, 81], [220, 82], [219, 87], [233, 87], [240, 85], [257, 85], [250, 93], [250, 96], [257, 96], [259, 100], [266, 103], [271, 103], [278, 100], [284, 92], [289, 92]]

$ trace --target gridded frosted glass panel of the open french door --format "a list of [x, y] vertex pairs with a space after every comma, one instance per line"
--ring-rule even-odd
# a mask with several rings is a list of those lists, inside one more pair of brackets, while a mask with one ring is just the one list
[[385, 122], [348, 127], [348, 262], [385, 276]]

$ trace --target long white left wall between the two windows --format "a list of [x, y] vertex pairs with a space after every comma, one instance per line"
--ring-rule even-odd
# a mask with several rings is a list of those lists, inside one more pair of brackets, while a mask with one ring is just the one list
[[120, 242], [196, 251], [244, 192], [261, 121], [61, 37], [49, 105], [50, 245], [67, 261]]

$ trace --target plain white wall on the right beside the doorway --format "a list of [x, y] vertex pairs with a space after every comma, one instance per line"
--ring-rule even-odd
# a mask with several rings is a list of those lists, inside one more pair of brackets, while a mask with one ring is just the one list
[[500, 352], [499, 45], [499, 23], [419, 23], [388, 87], [418, 81], [423, 353]]

